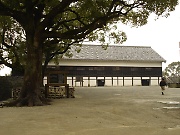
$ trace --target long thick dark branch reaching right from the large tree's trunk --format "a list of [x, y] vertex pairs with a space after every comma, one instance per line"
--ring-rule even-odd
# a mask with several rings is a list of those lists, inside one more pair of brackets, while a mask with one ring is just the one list
[[[122, 7], [116, 10], [112, 10], [113, 7], [115, 8], [119, 3], [122, 5]], [[61, 38], [61, 39], [82, 39], [82, 38], [85, 38], [87, 34], [91, 33], [95, 29], [103, 28], [108, 22], [113, 21], [114, 19], [119, 18], [120, 16], [126, 16], [133, 8], [137, 8], [139, 6], [142, 6], [143, 4], [144, 4], [143, 2], [140, 2], [140, 3], [135, 2], [128, 5], [124, 1], [114, 0], [110, 4], [110, 9], [107, 12], [107, 14], [104, 15], [103, 17], [97, 18], [90, 24], [85, 24], [83, 21], [81, 21], [81, 17], [78, 15], [78, 13], [76, 13], [72, 9], [67, 9], [66, 11], [70, 11], [74, 13], [77, 17], [71, 20], [64, 20], [58, 23], [56, 25], [56, 31], [46, 31], [44, 35], [45, 35], [45, 38], [56, 37], [56, 38]], [[125, 7], [126, 9], [124, 9]], [[82, 24], [82, 27], [79, 26], [78, 28], [74, 26], [72, 27], [72, 29], [70, 29], [70, 27], [66, 25], [66, 23], [71, 22], [71, 21], [72, 22], [79, 21]], [[67, 31], [64, 33], [57, 32], [57, 27], [62, 24], [64, 24]]]

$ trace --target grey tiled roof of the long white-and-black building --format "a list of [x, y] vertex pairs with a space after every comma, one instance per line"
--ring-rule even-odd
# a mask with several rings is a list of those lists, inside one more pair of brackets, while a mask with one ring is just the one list
[[147, 46], [111, 45], [104, 50], [101, 45], [82, 45], [79, 53], [75, 47], [71, 47], [71, 52], [71, 58], [63, 56], [63, 59], [165, 62], [164, 58]]

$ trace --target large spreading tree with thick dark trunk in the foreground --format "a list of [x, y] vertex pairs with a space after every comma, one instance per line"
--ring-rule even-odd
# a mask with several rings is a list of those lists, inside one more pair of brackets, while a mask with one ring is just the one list
[[[25, 31], [24, 84], [16, 105], [42, 105], [42, 64], [84, 39], [124, 41], [110, 31], [117, 21], [141, 26], [151, 13], [167, 15], [178, 0], [0, 0], [0, 15], [17, 21]], [[117, 36], [118, 35], [118, 36]], [[45, 60], [47, 64], [49, 60]]]

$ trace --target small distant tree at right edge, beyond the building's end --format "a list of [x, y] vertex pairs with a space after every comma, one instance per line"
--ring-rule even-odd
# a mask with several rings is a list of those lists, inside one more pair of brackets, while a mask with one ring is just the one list
[[180, 77], [180, 61], [172, 62], [163, 71], [165, 76]]

